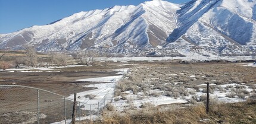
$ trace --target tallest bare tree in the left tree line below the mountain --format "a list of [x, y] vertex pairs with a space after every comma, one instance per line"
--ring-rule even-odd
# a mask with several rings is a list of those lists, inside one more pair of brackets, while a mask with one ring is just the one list
[[29, 62], [29, 65], [35, 67], [38, 62], [38, 55], [36, 54], [36, 50], [33, 46], [26, 46], [26, 58]]

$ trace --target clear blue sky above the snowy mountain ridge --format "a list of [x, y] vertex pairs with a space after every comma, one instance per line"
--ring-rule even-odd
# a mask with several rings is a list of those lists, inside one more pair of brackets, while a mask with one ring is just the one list
[[[0, 0], [0, 34], [45, 25], [80, 11], [139, 5], [150, 0]], [[166, 0], [176, 4], [190, 0]]]

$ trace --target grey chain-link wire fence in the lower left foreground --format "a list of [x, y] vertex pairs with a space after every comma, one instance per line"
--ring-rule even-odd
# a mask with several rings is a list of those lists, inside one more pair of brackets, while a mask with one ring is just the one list
[[[106, 90], [93, 102], [77, 101], [78, 122], [100, 119], [101, 110], [113, 100], [115, 85]], [[71, 123], [73, 98], [40, 88], [0, 85], [0, 108], [0, 123]]]

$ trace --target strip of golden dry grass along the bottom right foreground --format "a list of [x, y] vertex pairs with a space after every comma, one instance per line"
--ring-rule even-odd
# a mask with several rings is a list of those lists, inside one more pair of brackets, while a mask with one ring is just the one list
[[256, 123], [256, 102], [212, 104], [210, 113], [205, 113], [205, 106], [199, 104], [185, 109], [161, 109], [145, 105], [143, 109], [131, 112], [104, 111], [99, 123], [139, 124], [139, 123]]

